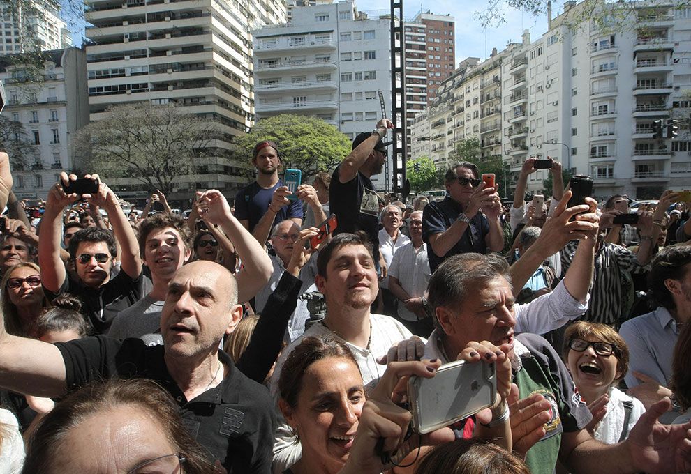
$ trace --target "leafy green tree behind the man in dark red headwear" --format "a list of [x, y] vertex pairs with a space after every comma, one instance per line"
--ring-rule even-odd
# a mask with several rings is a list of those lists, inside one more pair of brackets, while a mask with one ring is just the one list
[[252, 151], [258, 142], [276, 142], [284, 168], [302, 170], [302, 180], [327, 171], [348, 156], [348, 137], [321, 119], [304, 115], [281, 114], [260, 119], [248, 134], [237, 137], [242, 162], [250, 166]]

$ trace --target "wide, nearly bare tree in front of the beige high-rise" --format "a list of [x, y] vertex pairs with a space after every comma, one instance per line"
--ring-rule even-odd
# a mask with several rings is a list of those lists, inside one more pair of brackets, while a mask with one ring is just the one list
[[[134, 178], [170, 194], [174, 178], [196, 174], [214, 138], [225, 138], [214, 122], [181, 107], [150, 102], [107, 109], [105, 119], [77, 132], [73, 150], [80, 167], [106, 178]], [[214, 156], [218, 149], [214, 148]]]

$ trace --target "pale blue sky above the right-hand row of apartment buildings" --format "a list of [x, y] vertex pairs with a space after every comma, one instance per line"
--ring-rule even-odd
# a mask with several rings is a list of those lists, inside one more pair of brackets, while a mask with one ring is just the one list
[[[552, 16], [556, 16], [563, 2], [553, 1]], [[355, 0], [359, 10], [389, 10], [390, 0]], [[530, 30], [531, 40], [535, 40], [547, 31], [547, 17], [533, 17], [514, 8], [506, 7], [507, 22], [500, 26], [483, 31], [480, 20], [475, 19], [477, 11], [486, 8], [486, 0], [413, 0], [403, 3], [403, 16], [412, 17], [421, 8], [431, 13], [446, 15], [450, 13], [456, 20], [456, 66], [469, 56], [485, 59], [492, 48], [503, 49], [510, 41], [519, 43], [523, 29]]]

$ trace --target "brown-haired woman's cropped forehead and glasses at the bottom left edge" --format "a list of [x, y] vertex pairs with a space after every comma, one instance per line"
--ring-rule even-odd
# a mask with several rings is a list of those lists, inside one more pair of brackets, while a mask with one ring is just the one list
[[152, 381], [87, 385], [59, 402], [29, 437], [25, 474], [217, 474], [177, 404]]

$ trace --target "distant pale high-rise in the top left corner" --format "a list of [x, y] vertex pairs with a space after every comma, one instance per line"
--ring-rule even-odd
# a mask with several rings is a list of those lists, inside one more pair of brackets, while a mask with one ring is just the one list
[[63, 49], [72, 46], [66, 24], [59, 17], [55, 0], [14, 2], [14, 8], [0, 6], [0, 56], [34, 51]]

